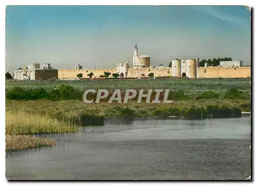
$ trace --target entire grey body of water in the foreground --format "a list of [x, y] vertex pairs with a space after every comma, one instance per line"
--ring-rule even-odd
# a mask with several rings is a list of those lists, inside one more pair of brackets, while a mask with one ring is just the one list
[[[90, 130], [90, 129], [89, 129]], [[46, 136], [41, 136], [46, 137]], [[250, 118], [109, 120], [48, 136], [55, 147], [8, 152], [8, 179], [245, 179]]]

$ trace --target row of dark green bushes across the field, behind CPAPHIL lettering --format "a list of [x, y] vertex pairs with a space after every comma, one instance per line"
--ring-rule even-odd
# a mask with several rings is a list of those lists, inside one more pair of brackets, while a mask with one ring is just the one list
[[[146, 91], [144, 91], [146, 94]], [[75, 89], [72, 86], [61, 85], [58, 88], [54, 89], [44, 89], [44, 88], [34, 88], [34, 89], [25, 89], [22, 87], [14, 87], [12, 89], [6, 89], [6, 98], [10, 100], [37, 100], [37, 99], [48, 99], [48, 100], [82, 100], [83, 91]], [[97, 93], [88, 94], [88, 99], [95, 99]], [[107, 98], [101, 101], [109, 101], [112, 94], [110, 93]], [[121, 99], [123, 100], [125, 93], [121, 94]], [[139, 96], [139, 90], [137, 91], [137, 96], [133, 98], [133, 100], [137, 100]], [[152, 92], [151, 102], [155, 99], [156, 92]], [[169, 91], [168, 100], [188, 100], [188, 99], [217, 99], [217, 98], [225, 98], [225, 99], [246, 99], [249, 98], [249, 95], [244, 93], [241, 90], [236, 88], [231, 88], [226, 91], [225, 94], [221, 95], [218, 93], [214, 93], [212, 91], [206, 91], [197, 97], [188, 96], [185, 94], [185, 91]], [[163, 100], [164, 92], [160, 93], [159, 99]], [[142, 102], [145, 101], [146, 98], [142, 98]], [[129, 100], [130, 101], [130, 100]]]

